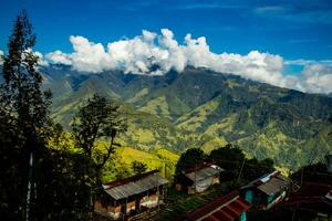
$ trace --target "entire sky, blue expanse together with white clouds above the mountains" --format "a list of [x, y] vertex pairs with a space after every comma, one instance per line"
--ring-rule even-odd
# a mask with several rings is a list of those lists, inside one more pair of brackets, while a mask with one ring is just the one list
[[[51, 54], [52, 61], [72, 64], [80, 71], [100, 72], [114, 67], [110, 62], [115, 61], [125, 63], [128, 72], [142, 73], [152, 65], [151, 55], [131, 54], [135, 61], [118, 57], [122, 51], [116, 50], [129, 41], [117, 43], [112, 52], [107, 51], [107, 43], [135, 36], [142, 40], [142, 30], [148, 30], [157, 34], [154, 41], [169, 40], [170, 45], [175, 40], [178, 45], [187, 45], [185, 36], [191, 33], [189, 42], [205, 36], [207, 44], [200, 41], [198, 48], [167, 49], [170, 57], [166, 63], [165, 45], [155, 49], [137, 39], [131, 45], [162, 51], [156, 62], [163, 63], [164, 71], [181, 70], [181, 64], [175, 62], [181, 53], [187, 56], [183, 64], [208, 66], [304, 92], [332, 92], [331, 0], [0, 0], [0, 6], [2, 51], [15, 15], [27, 9], [38, 35], [34, 50], [44, 55], [60, 50], [61, 53]], [[160, 29], [172, 32], [160, 33]], [[195, 50], [205, 56], [201, 61], [200, 55], [191, 56]], [[219, 57], [224, 52], [227, 55]]]

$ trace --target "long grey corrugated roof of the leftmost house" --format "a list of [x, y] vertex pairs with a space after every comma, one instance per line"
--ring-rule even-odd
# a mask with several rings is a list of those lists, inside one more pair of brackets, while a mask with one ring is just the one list
[[111, 187], [108, 189], [105, 189], [105, 192], [110, 194], [113, 199], [120, 200], [145, 192], [155, 187], [166, 185], [167, 182], [168, 181], [163, 177], [159, 177], [157, 175], [151, 175], [148, 177], [144, 177], [139, 180], [131, 181], [122, 186]]

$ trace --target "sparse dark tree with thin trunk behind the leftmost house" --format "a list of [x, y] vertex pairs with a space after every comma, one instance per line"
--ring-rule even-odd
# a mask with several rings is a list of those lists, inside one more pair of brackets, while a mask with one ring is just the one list
[[[114, 152], [116, 136], [125, 127], [121, 117], [121, 107], [94, 94], [87, 104], [79, 109], [72, 125], [75, 147], [83, 150], [93, 173], [93, 185], [100, 185], [101, 171]], [[101, 143], [103, 140], [103, 143]]]

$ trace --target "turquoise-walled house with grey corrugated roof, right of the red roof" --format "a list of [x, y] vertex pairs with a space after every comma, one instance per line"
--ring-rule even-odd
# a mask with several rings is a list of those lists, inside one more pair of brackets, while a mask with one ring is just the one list
[[290, 185], [290, 179], [273, 171], [241, 187], [240, 191], [247, 202], [258, 209], [268, 210], [286, 197]]

